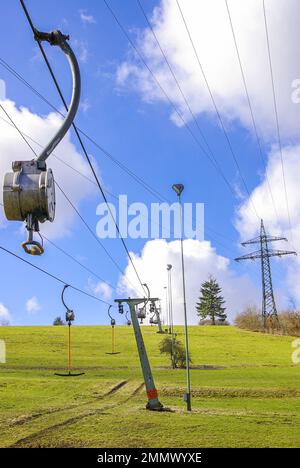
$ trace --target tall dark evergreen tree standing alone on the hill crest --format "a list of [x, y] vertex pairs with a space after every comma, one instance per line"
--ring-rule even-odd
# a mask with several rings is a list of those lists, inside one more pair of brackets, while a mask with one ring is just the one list
[[225, 322], [227, 315], [224, 298], [221, 295], [222, 289], [217, 283], [217, 280], [212, 276], [207, 281], [204, 281], [201, 286], [201, 296], [196, 304], [197, 314], [201, 320], [209, 317], [212, 324], [216, 324], [216, 320]]

